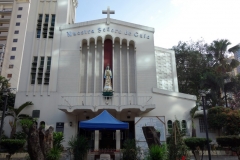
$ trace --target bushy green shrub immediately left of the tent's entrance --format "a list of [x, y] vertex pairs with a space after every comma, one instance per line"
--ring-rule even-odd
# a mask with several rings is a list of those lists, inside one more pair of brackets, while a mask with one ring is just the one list
[[86, 137], [82, 135], [72, 137], [68, 142], [68, 145], [73, 151], [74, 160], [84, 160], [84, 157], [89, 149], [88, 140]]

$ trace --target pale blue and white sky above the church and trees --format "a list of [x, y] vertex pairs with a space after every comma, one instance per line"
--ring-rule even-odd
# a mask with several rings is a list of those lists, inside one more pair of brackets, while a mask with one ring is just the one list
[[113, 19], [155, 28], [155, 46], [200, 39], [240, 43], [240, 0], [78, 0], [75, 22], [106, 18], [108, 6]]

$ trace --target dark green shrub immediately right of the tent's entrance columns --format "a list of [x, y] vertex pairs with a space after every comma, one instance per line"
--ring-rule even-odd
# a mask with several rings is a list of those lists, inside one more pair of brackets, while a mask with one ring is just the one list
[[134, 139], [126, 139], [123, 142], [123, 157], [125, 160], [136, 160], [138, 159], [138, 155], [140, 153], [140, 148], [136, 146], [136, 142]]

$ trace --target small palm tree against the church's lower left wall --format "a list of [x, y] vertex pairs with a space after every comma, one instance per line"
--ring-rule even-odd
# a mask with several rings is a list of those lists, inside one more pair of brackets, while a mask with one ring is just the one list
[[19, 119], [23, 118], [23, 117], [29, 117], [29, 115], [20, 114], [20, 113], [24, 108], [26, 108], [30, 105], [33, 105], [33, 103], [32, 102], [25, 102], [19, 108], [9, 107], [9, 111], [6, 113], [6, 116], [12, 116], [13, 117], [13, 121], [9, 121], [9, 124], [12, 128], [10, 138], [12, 138], [13, 135], [16, 133], [17, 121]]

